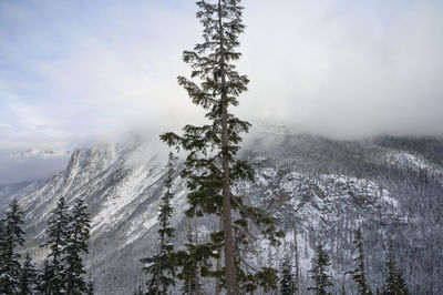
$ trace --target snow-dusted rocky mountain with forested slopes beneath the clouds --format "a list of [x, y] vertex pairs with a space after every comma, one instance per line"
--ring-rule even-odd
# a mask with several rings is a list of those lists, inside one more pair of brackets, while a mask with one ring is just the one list
[[[352, 266], [353, 232], [362, 226], [372, 286], [383, 283], [384, 251], [392, 240], [414, 294], [441, 294], [443, 282], [443, 141], [381, 138], [331, 141], [272, 133], [249, 140], [241, 156], [256, 169], [256, 182], [238, 185], [253, 202], [271, 212], [286, 230], [279, 248], [262, 241], [256, 265], [279, 267], [293, 250], [293, 225], [306, 288], [318, 241], [326, 244], [337, 289], [356, 286], [344, 273]], [[92, 215], [87, 268], [97, 294], [131, 294], [143, 284], [140, 258], [156, 247], [156, 215], [166, 156], [150, 145], [105, 145], [72, 153], [65, 171], [33, 190], [14, 194], [25, 211], [27, 245], [35, 260], [49, 213], [60, 196], [68, 204], [86, 200]], [[185, 182], [174, 183], [175, 242], [185, 238]], [[210, 220], [199, 221], [200, 238]], [[210, 293], [210, 292], [209, 292]]]

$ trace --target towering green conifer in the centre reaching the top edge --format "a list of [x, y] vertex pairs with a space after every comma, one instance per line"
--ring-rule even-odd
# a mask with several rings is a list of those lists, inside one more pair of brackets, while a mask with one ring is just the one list
[[[245, 273], [245, 256], [254, 236], [248, 224], [265, 225], [262, 233], [271, 243], [277, 243], [276, 235], [281, 235], [272, 226], [264, 211], [247, 206], [241, 195], [233, 192], [233, 185], [239, 181], [253, 181], [254, 171], [247, 162], [236, 157], [240, 133], [248, 132], [250, 124], [229, 113], [228, 106], [238, 105], [237, 98], [247, 90], [249, 82], [240, 75], [234, 64], [241, 53], [239, 34], [244, 32], [240, 0], [218, 0], [216, 3], [197, 1], [204, 31], [204, 42], [196, 44], [193, 51], [184, 52], [184, 61], [188, 63], [193, 82], [184, 77], [178, 83], [187, 91], [193, 102], [207, 111], [208, 124], [203, 126], [186, 125], [184, 134], [165, 133], [161, 139], [169, 146], [182, 148], [188, 152], [182, 175], [187, 177], [189, 217], [204, 215], [222, 215], [222, 231], [210, 235], [212, 241], [196, 245], [197, 257], [203, 265], [202, 275], [224, 275], [228, 295], [253, 292], [261, 286], [265, 289], [277, 287], [277, 271], [274, 268], [256, 269], [254, 275]], [[233, 212], [237, 212], [233, 220]], [[238, 216], [238, 217], [237, 217]], [[235, 241], [236, 240], [236, 241]], [[237, 245], [237, 248], [236, 248]], [[219, 257], [224, 250], [225, 268], [210, 271], [209, 261]], [[245, 266], [245, 265], [244, 265]], [[248, 267], [251, 268], [251, 267]]]

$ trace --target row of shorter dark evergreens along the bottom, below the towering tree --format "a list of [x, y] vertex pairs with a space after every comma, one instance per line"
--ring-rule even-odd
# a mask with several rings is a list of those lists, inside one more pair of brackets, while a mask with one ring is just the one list
[[[158, 213], [158, 253], [143, 260], [144, 269], [148, 274], [146, 286], [138, 286], [136, 294], [206, 294], [198, 277], [204, 276], [204, 267], [209, 263], [200, 264], [193, 255], [197, 247], [196, 234], [189, 226], [187, 251], [174, 252], [174, 245], [168, 243], [174, 228], [169, 226], [169, 217], [173, 214], [171, 193], [173, 184], [174, 161], [169, 154], [168, 173], [165, 182], [165, 192], [162, 197], [162, 205]], [[18, 248], [23, 245], [24, 233], [23, 212], [20, 210], [17, 200], [13, 200], [0, 220], [0, 294], [93, 294], [92, 281], [86, 282], [82, 255], [87, 253], [87, 238], [90, 228], [90, 216], [86, 213], [86, 205], [79, 199], [69, 210], [61, 197], [56, 207], [51, 213], [47, 228], [47, 241], [41, 246], [48, 247], [48, 258], [38, 267], [32, 257], [27, 253], [24, 257]], [[356, 234], [354, 268], [347, 272], [352, 276], [358, 286], [359, 294], [385, 294], [406, 295], [410, 294], [403, 279], [401, 269], [396, 266], [395, 255], [392, 245], [385, 254], [385, 283], [381, 289], [373, 288], [368, 283], [367, 267], [364, 265], [364, 245], [361, 228]], [[297, 281], [293, 268], [295, 263], [290, 260], [288, 250], [281, 262], [279, 274], [272, 279], [279, 284], [272, 284], [268, 291], [279, 291], [279, 294], [302, 294], [297, 289]], [[217, 257], [217, 256], [216, 256]], [[330, 274], [330, 262], [327, 251], [319, 243], [311, 262], [309, 271], [311, 285], [308, 291], [312, 294], [331, 294], [328, 288], [332, 286]], [[220, 271], [223, 274], [223, 271]], [[216, 276], [212, 276], [217, 279]], [[225, 288], [224, 279], [217, 285], [218, 292]], [[257, 285], [258, 286], [258, 285]], [[256, 287], [257, 288], [257, 287]], [[254, 294], [253, 291], [247, 293]], [[239, 294], [244, 294], [240, 292]], [[346, 288], [342, 288], [346, 294]]]

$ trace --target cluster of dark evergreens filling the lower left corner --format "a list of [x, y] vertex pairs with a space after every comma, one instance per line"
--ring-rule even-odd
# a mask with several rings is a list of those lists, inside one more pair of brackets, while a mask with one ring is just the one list
[[68, 207], [60, 197], [48, 220], [45, 242], [40, 245], [49, 253], [38, 267], [29, 253], [22, 257], [18, 251], [24, 243], [24, 220], [13, 200], [0, 220], [0, 294], [93, 294], [83, 262], [91, 222], [86, 208], [81, 199]]

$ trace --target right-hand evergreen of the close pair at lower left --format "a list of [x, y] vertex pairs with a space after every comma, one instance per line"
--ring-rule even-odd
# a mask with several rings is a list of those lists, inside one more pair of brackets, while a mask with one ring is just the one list
[[87, 240], [90, 238], [90, 215], [86, 213], [86, 204], [82, 199], [75, 201], [72, 214], [69, 216], [68, 238], [65, 247], [65, 276], [66, 294], [83, 294], [87, 292], [82, 255], [87, 253]]

